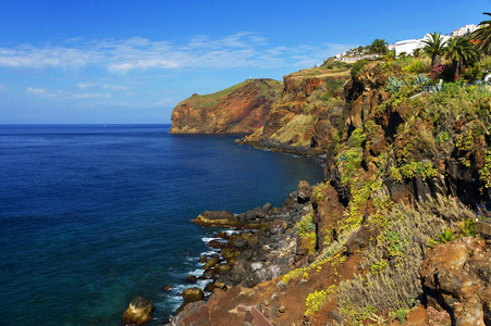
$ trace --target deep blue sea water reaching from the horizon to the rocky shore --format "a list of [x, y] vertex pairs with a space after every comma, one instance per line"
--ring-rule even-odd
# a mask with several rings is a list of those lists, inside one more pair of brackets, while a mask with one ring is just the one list
[[0, 325], [120, 325], [137, 296], [161, 325], [216, 231], [191, 220], [322, 179], [307, 159], [169, 129], [0, 126]]

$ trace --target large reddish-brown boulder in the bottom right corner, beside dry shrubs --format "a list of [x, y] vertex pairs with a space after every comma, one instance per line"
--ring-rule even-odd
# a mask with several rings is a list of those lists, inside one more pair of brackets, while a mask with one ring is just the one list
[[483, 326], [491, 325], [490, 266], [484, 242], [469, 237], [428, 251], [419, 275], [428, 301], [444, 306], [452, 325]]

